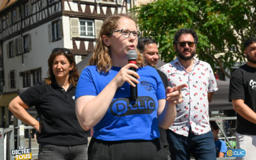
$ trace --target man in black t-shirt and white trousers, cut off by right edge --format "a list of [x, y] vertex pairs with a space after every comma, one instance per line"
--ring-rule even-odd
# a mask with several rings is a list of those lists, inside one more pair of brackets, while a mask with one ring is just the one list
[[244, 42], [247, 63], [237, 68], [230, 78], [229, 101], [237, 112], [236, 145], [244, 157], [256, 157], [256, 36]]

